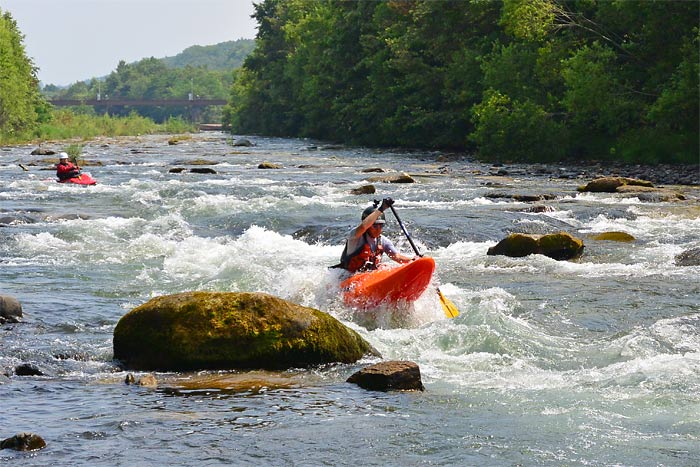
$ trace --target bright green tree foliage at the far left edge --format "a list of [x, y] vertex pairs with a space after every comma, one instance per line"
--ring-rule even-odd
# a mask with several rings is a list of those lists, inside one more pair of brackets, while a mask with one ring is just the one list
[[10, 13], [0, 10], [0, 141], [34, 128], [48, 118], [39, 94], [36, 68], [27, 57], [24, 36]]

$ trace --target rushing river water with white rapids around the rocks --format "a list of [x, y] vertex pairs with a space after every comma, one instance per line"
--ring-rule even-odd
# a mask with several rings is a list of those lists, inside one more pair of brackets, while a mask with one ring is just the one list
[[[87, 167], [92, 187], [29, 165], [41, 159], [34, 146], [0, 148], [0, 293], [24, 310], [22, 323], [0, 326], [0, 439], [30, 431], [47, 442], [0, 451], [3, 465], [700, 464], [700, 268], [674, 263], [700, 246], [697, 187], [683, 188], [686, 201], [646, 202], [578, 193], [587, 180], [492, 177], [436, 153], [249, 139], [86, 143], [84, 158], [102, 164]], [[196, 160], [217, 173], [169, 173]], [[351, 194], [375, 167], [417, 183]], [[556, 197], [534, 213], [493, 194]], [[402, 313], [343, 306], [328, 266], [385, 196], [435, 258], [456, 319], [432, 291]], [[385, 234], [411, 254], [387, 218]], [[584, 240], [580, 260], [486, 254], [509, 232], [559, 230]], [[636, 240], [591, 238], [604, 231]], [[384, 359], [418, 363], [426, 391], [345, 382], [371, 359], [124, 384], [112, 361], [119, 318], [190, 290], [260, 291], [326, 311]], [[22, 363], [45, 375], [15, 375]]]

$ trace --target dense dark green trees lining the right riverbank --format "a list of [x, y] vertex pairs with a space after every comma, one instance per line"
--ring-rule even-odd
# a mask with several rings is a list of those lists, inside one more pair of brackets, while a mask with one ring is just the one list
[[263, 0], [225, 118], [238, 133], [491, 160], [697, 163], [699, 8]]

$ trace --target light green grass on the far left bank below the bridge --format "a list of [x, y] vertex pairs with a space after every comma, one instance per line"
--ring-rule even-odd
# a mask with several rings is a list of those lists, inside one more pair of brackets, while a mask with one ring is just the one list
[[0, 135], [3, 144], [30, 143], [36, 141], [71, 138], [95, 138], [98, 136], [135, 136], [154, 133], [187, 133], [196, 127], [180, 118], [155, 123], [150, 118], [132, 113], [128, 117], [74, 113], [67, 109], [52, 112], [49, 121], [39, 124], [33, 131], [12, 135]]

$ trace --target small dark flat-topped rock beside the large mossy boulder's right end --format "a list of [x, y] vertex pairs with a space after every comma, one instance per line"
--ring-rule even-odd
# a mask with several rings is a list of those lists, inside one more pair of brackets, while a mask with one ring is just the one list
[[388, 361], [363, 368], [347, 379], [371, 391], [423, 391], [420, 368], [407, 361]]

